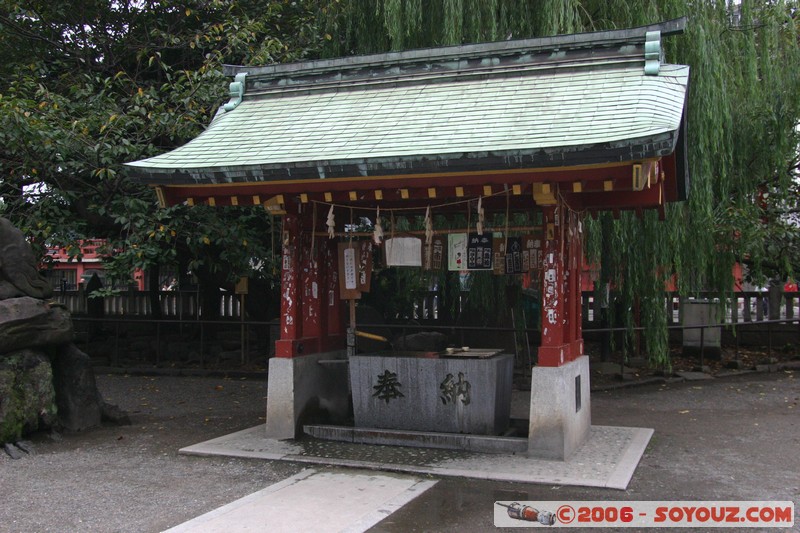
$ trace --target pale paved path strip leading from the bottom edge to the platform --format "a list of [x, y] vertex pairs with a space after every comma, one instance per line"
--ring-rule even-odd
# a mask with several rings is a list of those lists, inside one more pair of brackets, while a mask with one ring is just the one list
[[374, 472], [307, 469], [167, 531], [356, 533], [366, 531], [435, 483]]

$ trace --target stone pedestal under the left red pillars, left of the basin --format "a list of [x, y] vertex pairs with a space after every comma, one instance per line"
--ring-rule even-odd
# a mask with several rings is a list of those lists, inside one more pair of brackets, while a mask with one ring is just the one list
[[349, 410], [346, 363], [343, 351], [270, 359], [267, 438], [292, 439], [304, 423], [343, 420]]

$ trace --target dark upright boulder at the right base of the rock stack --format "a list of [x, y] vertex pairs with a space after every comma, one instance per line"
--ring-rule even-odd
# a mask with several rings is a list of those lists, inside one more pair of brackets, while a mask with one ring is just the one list
[[53, 359], [58, 419], [65, 429], [82, 431], [101, 421], [100, 399], [89, 356], [74, 344], [59, 348]]

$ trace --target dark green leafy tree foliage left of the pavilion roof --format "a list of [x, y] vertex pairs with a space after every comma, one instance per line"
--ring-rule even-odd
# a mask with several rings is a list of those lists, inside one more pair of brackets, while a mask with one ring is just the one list
[[263, 265], [263, 210], [159, 210], [122, 164], [197, 136], [227, 98], [223, 63], [318, 47], [310, 5], [0, 1], [0, 211], [39, 243], [110, 239], [120, 276], [180, 262], [214, 286]]

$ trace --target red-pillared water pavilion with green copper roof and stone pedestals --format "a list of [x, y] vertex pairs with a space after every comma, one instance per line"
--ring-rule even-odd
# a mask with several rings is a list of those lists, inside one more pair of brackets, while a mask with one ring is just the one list
[[[328, 363], [348, 357], [343, 298], [357, 297], [345, 293], [358, 286], [347, 285], [355, 282], [340, 271], [342, 246], [329, 230], [340, 236], [354, 209], [372, 219], [380, 209], [385, 239], [394, 210], [471, 210], [465, 234], [478, 233], [479, 208], [527, 210], [540, 213], [528, 270], [538, 276], [542, 302], [528, 452], [568, 458], [591, 423], [582, 220], [599, 211], [663, 214], [667, 202], [687, 198], [689, 67], [666, 64], [662, 47], [684, 26], [677, 19], [226, 66], [230, 101], [207, 130], [127, 168], [162, 205], [263, 205], [282, 217], [280, 338], [269, 362], [266, 435], [298, 436], [310, 406], [333, 414], [349, 407], [348, 365]], [[436, 234], [429, 226], [421, 254]], [[510, 396], [510, 382], [497, 383]]]

